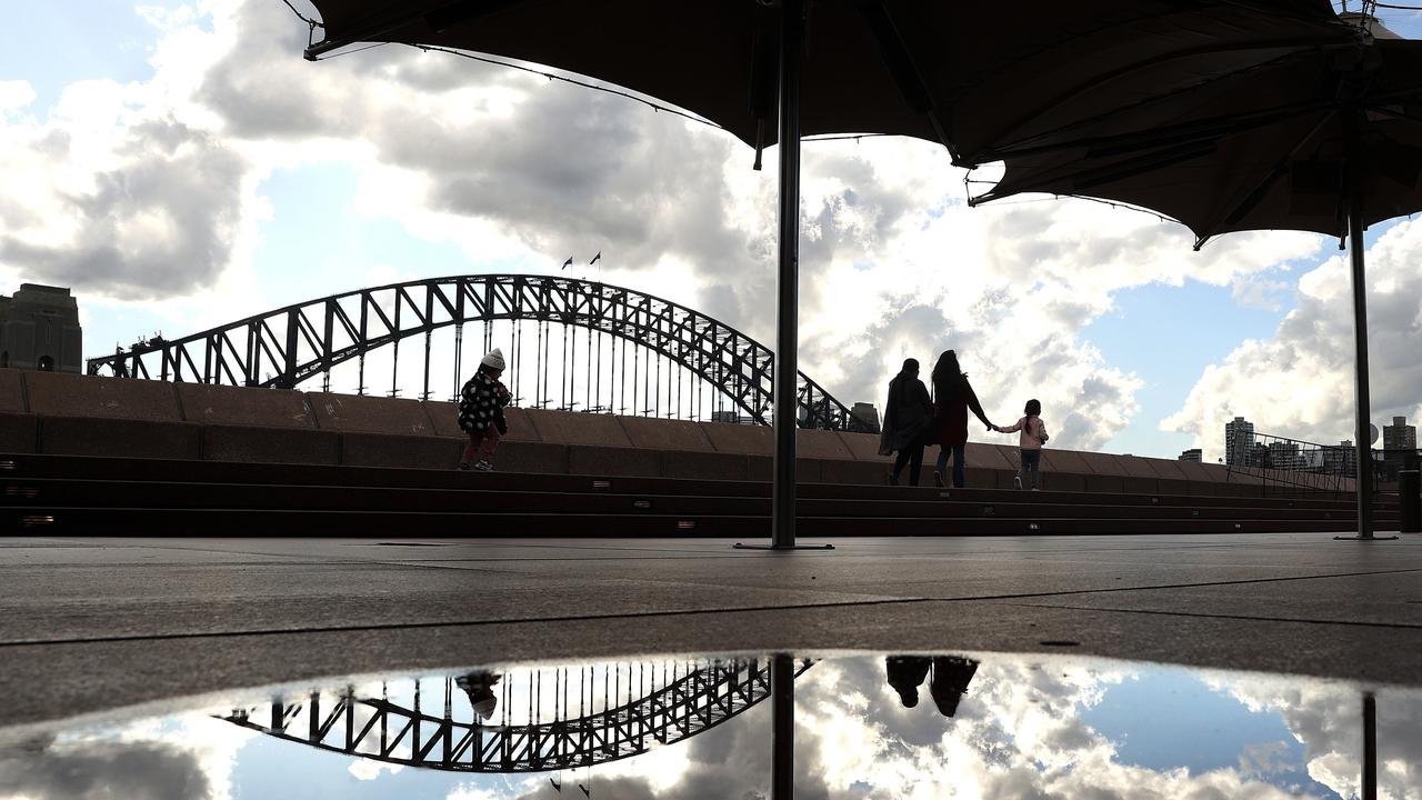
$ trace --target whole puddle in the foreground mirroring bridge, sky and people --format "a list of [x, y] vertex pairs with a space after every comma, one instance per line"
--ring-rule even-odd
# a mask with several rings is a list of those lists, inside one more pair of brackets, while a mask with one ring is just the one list
[[1422, 690], [1051, 656], [515, 665], [0, 730], [0, 799], [1349, 799], [1372, 783], [1422, 799]]

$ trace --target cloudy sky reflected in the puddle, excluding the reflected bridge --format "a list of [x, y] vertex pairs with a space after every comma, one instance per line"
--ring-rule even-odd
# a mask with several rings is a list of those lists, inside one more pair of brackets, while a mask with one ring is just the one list
[[[1359, 796], [1362, 689], [1291, 676], [1190, 670], [1105, 659], [978, 655], [951, 717], [930, 699], [906, 707], [886, 683], [883, 656], [816, 660], [795, 682], [796, 796], [823, 800], [1091, 797], [1096, 800], [1249, 800]], [[654, 668], [657, 662], [637, 665]], [[613, 665], [621, 669], [626, 665]], [[579, 675], [580, 666], [567, 669]], [[600, 675], [592, 665], [589, 675]], [[636, 669], [636, 668], [634, 668]], [[503, 672], [508, 695], [491, 725], [529, 720], [532, 670]], [[553, 716], [552, 669], [539, 683]], [[947, 673], [947, 672], [946, 672]], [[353, 759], [262, 736], [209, 715], [250, 707], [264, 725], [272, 698], [294, 706], [289, 730], [309, 726], [310, 692], [328, 713], [347, 686], [357, 698], [412, 707], [414, 680], [331, 680], [253, 690], [206, 710], [94, 723], [7, 743], [0, 737], [0, 799], [233, 800], [764, 800], [771, 776], [771, 707], [631, 759], [542, 774], [461, 774]], [[646, 686], [661, 688], [656, 678]], [[444, 709], [444, 676], [421, 679], [427, 713]], [[653, 689], [647, 688], [646, 693]], [[1422, 696], [1376, 693], [1378, 797], [1422, 797]], [[626, 692], [626, 689], [624, 689]], [[646, 696], [643, 689], [634, 699]], [[629, 702], [619, 693], [619, 702]], [[576, 693], [569, 695], [577, 707]], [[451, 713], [472, 712], [458, 689]], [[505, 717], [503, 707], [512, 707]], [[357, 705], [364, 727], [368, 706]], [[599, 706], [600, 707], [600, 706]], [[577, 716], [576, 713], [572, 716]], [[394, 729], [392, 729], [394, 730]], [[429, 730], [427, 729], [427, 736]], [[344, 746], [344, 722], [327, 742]], [[368, 749], [371, 744], [367, 743]], [[408, 756], [408, 740], [397, 757]], [[365, 752], [365, 750], [363, 750]], [[555, 790], [555, 783], [562, 791]]]

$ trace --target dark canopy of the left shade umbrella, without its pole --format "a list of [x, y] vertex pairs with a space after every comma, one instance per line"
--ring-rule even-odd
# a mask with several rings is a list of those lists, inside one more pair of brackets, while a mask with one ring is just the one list
[[[485, 53], [555, 67], [685, 108], [751, 147], [776, 140], [779, 3], [758, 0], [313, 0], [320, 57], [357, 41]], [[801, 132], [941, 142], [940, 38], [951, 4], [820, 0], [806, 16]]]

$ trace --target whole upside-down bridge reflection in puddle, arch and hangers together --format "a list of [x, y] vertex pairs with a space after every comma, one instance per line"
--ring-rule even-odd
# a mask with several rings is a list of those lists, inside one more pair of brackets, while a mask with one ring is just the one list
[[[795, 675], [812, 663], [796, 660]], [[287, 742], [391, 764], [535, 773], [592, 767], [688, 739], [741, 715], [771, 692], [768, 658], [660, 665], [660, 680], [657, 666], [616, 665], [616, 683], [606, 669], [589, 675], [587, 668], [502, 675], [503, 719], [498, 723], [481, 722], [472, 706], [461, 707], [452, 678], [441, 682], [442, 695], [435, 692], [437, 713], [421, 707], [429, 693], [422, 698], [415, 680], [407, 700], [391, 700], [384, 685], [378, 698], [358, 696], [353, 688], [316, 690], [296, 702], [273, 699], [270, 706], [239, 707], [222, 719]], [[522, 713], [525, 703], [523, 719], [509, 715], [510, 709]]]

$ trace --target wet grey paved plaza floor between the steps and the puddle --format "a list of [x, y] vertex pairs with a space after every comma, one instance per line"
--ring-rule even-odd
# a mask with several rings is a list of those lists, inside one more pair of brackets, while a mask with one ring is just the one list
[[0, 540], [0, 726], [671, 652], [1059, 652], [1422, 685], [1422, 537]]

